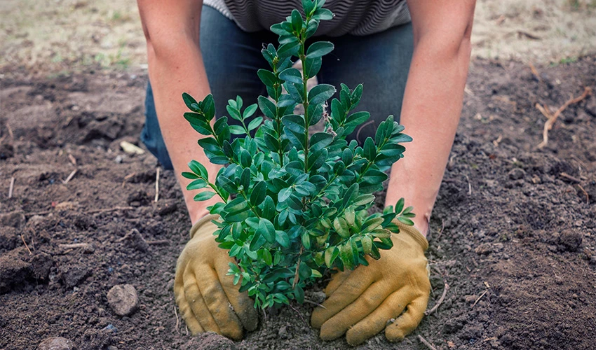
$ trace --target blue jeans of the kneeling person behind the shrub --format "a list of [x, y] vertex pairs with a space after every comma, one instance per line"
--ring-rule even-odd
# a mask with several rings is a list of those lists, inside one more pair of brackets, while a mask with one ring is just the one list
[[[261, 48], [267, 43], [277, 43], [277, 38], [270, 31], [245, 32], [214, 8], [203, 6], [201, 52], [217, 116], [226, 113], [228, 99], [235, 99], [237, 95], [243, 98], [246, 106], [257, 102], [259, 94], [266, 95], [257, 76], [258, 69], [270, 69], [261, 55]], [[348, 139], [363, 143], [366, 137], [374, 137], [379, 123], [390, 114], [398, 120], [414, 50], [412, 25], [393, 27], [368, 36], [318, 39], [335, 45], [331, 54], [323, 57], [318, 82], [336, 87], [345, 83], [351, 89], [360, 83], [364, 85], [357, 111], [369, 111], [371, 119]], [[229, 122], [232, 121], [229, 118]], [[180, 123], [181, 127], [190, 127], [182, 118]], [[147, 86], [141, 140], [165, 169], [172, 169], [157, 121], [151, 83]]]

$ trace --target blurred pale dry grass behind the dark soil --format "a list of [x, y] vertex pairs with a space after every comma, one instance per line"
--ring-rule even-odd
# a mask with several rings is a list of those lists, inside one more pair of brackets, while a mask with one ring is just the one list
[[[0, 69], [146, 64], [135, 1], [0, 1]], [[473, 57], [573, 62], [596, 51], [596, 0], [478, 0]]]

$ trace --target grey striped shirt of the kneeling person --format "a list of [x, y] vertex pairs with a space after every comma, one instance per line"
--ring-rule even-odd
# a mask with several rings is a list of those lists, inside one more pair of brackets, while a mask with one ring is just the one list
[[[269, 29], [285, 20], [292, 9], [302, 8], [301, 0], [204, 0], [203, 3], [219, 10], [244, 31]], [[327, 0], [324, 7], [335, 17], [321, 21], [317, 35], [363, 36], [411, 20], [405, 0]]]

